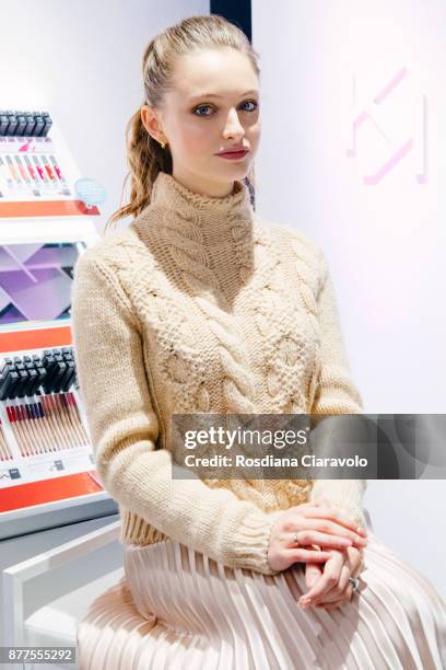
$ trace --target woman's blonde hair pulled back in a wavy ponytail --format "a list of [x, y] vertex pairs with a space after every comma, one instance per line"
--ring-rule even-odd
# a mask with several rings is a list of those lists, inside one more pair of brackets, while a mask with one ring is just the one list
[[[218, 14], [197, 15], [184, 19], [176, 25], [159, 33], [145, 48], [142, 59], [142, 77], [145, 101], [142, 104], [159, 107], [169, 90], [175, 63], [183, 55], [200, 49], [232, 47], [245, 54], [260, 76], [258, 54], [253, 49], [245, 33]], [[152, 186], [160, 171], [172, 174], [172, 155], [168, 145], [161, 145], [146, 131], [141, 120], [141, 108], [130, 118], [127, 130], [127, 162], [130, 169], [122, 188], [130, 177], [130, 203], [120, 207], [108, 223], [127, 216], [138, 216], [150, 204]], [[254, 204], [254, 168], [245, 177]]]

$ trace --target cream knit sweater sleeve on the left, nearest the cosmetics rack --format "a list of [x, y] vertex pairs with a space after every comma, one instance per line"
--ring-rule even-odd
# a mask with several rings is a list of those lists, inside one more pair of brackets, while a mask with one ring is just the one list
[[116, 273], [87, 250], [74, 270], [72, 333], [80, 394], [106, 490], [173, 540], [231, 567], [263, 574], [275, 515], [198, 477], [174, 480], [172, 454], [156, 447], [142, 337]]

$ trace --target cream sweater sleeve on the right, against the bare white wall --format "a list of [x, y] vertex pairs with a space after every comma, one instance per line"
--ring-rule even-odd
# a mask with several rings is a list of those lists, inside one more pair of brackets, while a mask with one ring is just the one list
[[[362, 414], [362, 397], [350, 372], [339, 322], [334, 288], [327, 261], [321, 254], [321, 284], [317, 301], [321, 333], [321, 367], [319, 383], [310, 413], [317, 414]], [[315, 421], [318, 423], [317, 420]], [[330, 419], [324, 419], [318, 430], [329, 434]], [[364, 528], [363, 496], [366, 480], [315, 480], [310, 500], [326, 498], [333, 507], [340, 508]]]

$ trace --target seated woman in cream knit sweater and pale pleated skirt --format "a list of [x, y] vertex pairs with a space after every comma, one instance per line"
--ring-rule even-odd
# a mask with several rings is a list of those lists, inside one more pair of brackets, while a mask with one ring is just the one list
[[173, 476], [173, 414], [351, 414], [362, 400], [322, 252], [253, 209], [249, 42], [220, 16], [186, 19], [149, 44], [143, 80], [130, 204], [113, 217], [133, 220], [83, 254], [72, 297], [126, 547], [125, 579], [79, 625], [80, 667], [439, 670], [445, 604], [367, 538], [364, 482]]

